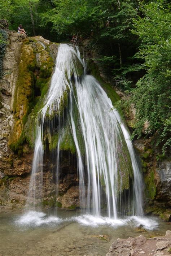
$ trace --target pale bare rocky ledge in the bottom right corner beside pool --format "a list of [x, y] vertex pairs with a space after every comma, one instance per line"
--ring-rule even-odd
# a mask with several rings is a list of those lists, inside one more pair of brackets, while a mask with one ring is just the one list
[[109, 255], [137, 256], [137, 255], [170, 255], [171, 254], [171, 231], [166, 231], [165, 237], [153, 237], [146, 239], [142, 235], [139, 237], [129, 237], [127, 239], [114, 240], [111, 244]]

